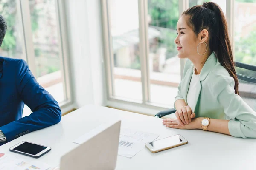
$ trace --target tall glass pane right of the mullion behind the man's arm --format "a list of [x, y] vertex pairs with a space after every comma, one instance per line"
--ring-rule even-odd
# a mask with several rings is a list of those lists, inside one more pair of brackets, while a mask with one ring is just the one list
[[55, 0], [29, 0], [29, 5], [37, 80], [58, 102], [63, 102], [64, 81], [61, 72], [55, 2]]

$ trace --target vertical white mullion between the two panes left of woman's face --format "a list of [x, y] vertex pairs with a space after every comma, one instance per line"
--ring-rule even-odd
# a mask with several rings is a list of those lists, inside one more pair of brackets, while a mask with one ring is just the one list
[[139, 37], [140, 37], [140, 65], [143, 104], [150, 101], [150, 83], [148, 69], [148, 25], [147, 25], [147, 0], [138, 0], [139, 10]]

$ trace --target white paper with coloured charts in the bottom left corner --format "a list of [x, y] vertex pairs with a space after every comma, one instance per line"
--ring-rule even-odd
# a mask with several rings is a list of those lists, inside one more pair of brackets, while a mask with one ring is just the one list
[[50, 170], [51, 167], [39, 161], [26, 161], [18, 156], [0, 153], [0, 170]]

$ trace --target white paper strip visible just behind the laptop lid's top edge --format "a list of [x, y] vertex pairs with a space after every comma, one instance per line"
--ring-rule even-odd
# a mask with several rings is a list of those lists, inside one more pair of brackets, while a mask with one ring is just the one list
[[84, 135], [74, 140], [73, 143], [82, 144], [108, 127], [109, 125], [107, 123], [101, 124], [98, 127], [94, 128], [93, 130], [90, 130], [88, 133], [85, 133]]

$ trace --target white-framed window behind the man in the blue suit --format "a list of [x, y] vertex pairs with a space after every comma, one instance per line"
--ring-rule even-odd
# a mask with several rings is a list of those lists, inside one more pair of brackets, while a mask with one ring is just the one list
[[[0, 14], [7, 32], [0, 48], [1, 56], [24, 59], [43, 86], [61, 105], [70, 102], [67, 54], [61, 36], [60, 0], [3, 0]], [[67, 47], [65, 47], [67, 48]], [[69, 86], [68, 86], [69, 87]], [[27, 106], [23, 116], [31, 111]]]

